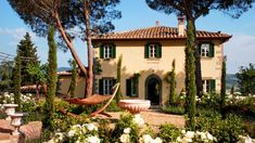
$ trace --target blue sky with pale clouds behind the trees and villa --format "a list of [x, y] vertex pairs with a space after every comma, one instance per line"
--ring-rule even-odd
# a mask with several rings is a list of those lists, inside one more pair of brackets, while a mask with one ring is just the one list
[[[47, 62], [48, 43], [46, 38], [37, 37], [29, 27], [12, 10], [7, 0], [0, 0], [0, 52], [16, 54], [16, 46], [26, 32], [29, 32], [33, 42], [37, 47], [37, 54], [41, 63]], [[122, 11], [122, 18], [113, 21], [115, 31], [130, 30], [155, 26], [160, 21], [163, 26], [177, 27], [175, 14], [151, 10], [145, 0], [120, 0], [116, 6]], [[229, 15], [218, 11], [211, 11], [209, 15], [200, 17], [196, 21], [197, 30], [221, 31], [232, 35], [232, 38], [225, 43], [224, 52], [227, 55], [227, 73], [235, 74], [240, 66], [255, 64], [255, 5], [240, 18], [233, 20]], [[75, 41], [76, 51], [87, 65], [86, 43]], [[72, 58], [71, 53], [58, 50], [58, 66], [69, 67], [67, 61]]]

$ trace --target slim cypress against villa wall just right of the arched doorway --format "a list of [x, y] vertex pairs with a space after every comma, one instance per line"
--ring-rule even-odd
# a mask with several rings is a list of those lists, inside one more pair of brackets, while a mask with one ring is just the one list
[[176, 60], [171, 63], [171, 72], [170, 72], [170, 95], [169, 95], [169, 102], [170, 104], [174, 104], [176, 102]]

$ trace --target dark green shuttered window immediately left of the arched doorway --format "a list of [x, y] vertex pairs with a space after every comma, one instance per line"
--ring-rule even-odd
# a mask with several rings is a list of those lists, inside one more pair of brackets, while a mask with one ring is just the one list
[[132, 77], [126, 80], [126, 91], [128, 96], [138, 96], [138, 77]]

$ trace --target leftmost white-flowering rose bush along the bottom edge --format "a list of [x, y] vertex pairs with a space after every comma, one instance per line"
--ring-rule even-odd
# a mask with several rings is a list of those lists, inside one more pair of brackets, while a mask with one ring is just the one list
[[93, 123], [74, 125], [65, 133], [58, 132], [48, 143], [71, 141], [75, 143], [100, 143], [98, 127]]

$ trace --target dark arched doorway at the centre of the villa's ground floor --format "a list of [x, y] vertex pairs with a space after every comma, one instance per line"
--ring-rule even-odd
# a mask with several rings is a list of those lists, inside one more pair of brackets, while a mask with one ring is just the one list
[[145, 98], [152, 105], [160, 105], [162, 96], [162, 80], [157, 75], [151, 75], [145, 80]]

